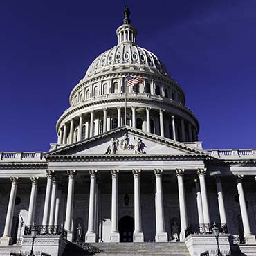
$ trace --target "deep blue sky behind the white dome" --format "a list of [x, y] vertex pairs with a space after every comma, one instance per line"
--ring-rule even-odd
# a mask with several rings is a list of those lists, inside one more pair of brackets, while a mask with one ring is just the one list
[[256, 148], [256, 1], [0, 4], [0, 151], [46, 151], [73, 86], [117, 44], [128, 3], [137, 44], [185, 91], [205, 149]]

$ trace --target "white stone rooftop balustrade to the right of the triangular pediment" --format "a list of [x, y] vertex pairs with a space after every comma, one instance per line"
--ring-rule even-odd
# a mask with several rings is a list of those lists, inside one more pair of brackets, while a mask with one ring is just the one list
[[256, 149], [210, 149], [208, 152], [217, 158], [256, 158]]

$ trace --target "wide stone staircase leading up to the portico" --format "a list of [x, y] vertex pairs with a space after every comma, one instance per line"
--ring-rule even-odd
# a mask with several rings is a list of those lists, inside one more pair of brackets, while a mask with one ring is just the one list
[[63, 256], [190, 256], [183, 243], [80, 243], [69, 247]]

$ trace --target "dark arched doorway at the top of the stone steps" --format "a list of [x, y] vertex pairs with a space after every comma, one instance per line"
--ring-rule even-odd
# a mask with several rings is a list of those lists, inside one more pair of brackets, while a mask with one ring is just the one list
[[120, 242], [132, 242], [134, 233], [134, 218], [124, 216], [119, 220]]

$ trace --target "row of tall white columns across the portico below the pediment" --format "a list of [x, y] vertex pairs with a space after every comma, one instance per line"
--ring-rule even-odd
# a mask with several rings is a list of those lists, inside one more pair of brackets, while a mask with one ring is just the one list
[[[75, 176], [77, 172], [75, 170], [68, 170], [68, 193], [66, 201], [66, 218], [65, 229], [68, 232], [68, 240], [72, 241], [72, 219], [73, 219], [73, 201], [74, 201], [74, 185]], [[134, 176], [134, 241], [144, 241], [142, 223], [141, 223], [141, 204], [140, 204], [140, 170], [132, 170]], [[162, 186], [162, 173], [163, 170], [155, 169], [154, 176], [156, 178], [156, 241], [167, 241], [167, 232], [165, 231], [165, 217], [163, 208], [163, 186]], [[179, 209], [181, 219], [181, 233], [180, 240], [185, 239], [185, 230], [188, 228], [188, 218], [185, 202], [185, 188], [183, 182], [184, 169], [176, 169], [176, 176], [178, 181], [179, 192]], [[210, 224], [210, 213], [208, 208], [208, 199], [205, 185], [206, 169], [200, 168], [197, 170], [199, 175], [199, 181], [195, 179], [196, 184], [196, 204], [199, 215], [199, 224]], [[97, 228], [95, 225], [95, 218], [97, 216], [97, 178], [98, 170], [89, 170], [90, 176], [90, 194], [89, 194], [89, 218], [88, 218], [88, 230], [86, 232], [86, 241], [97, 241]], [[118, 242], [120, 240], [118, 232], [118, 170], [111, 170], [112, 179], [112, 192], [111, 192], [111, 235], [110, 241]], [[239, 205], [241, 208], [241, 217], [244, 226], [244, 236], [247, 242], [254, 242], [255, 237], [251, 234], [250, 223], [248, 220], [248, 213], [246, 209], [246, 200], [244, 197], [244, 190], [242, 186], [242, 176], [237, 176], [237, 191], [239, 194]], [[12, 229], [12, 218], [15, 208], [15, 198], [17, 193], [17, 184], [19, 178], [11, 177], [11, 190], [10, 199], [8, 203], [8, 210], [6, 214], [6, 223], [3, 232], [3, 236], [0, 239], [1, 244], [10, 244], [12, 239], [10, 236]], [[27, 226], [33, 225], [35, 221], [35, 207], [37, 198], [37, 177], [31, 178], [31, 193], [30, 202], [28, 208], [28, 219], [26, 221]], [[226, 225], [226, 211], [223, 201], [223, 189], [221, 185], [221, 179], [216, 177], [217, 196], [219, 205], [219, 215], [221, 224]], [[44, 213], [42, 226], [57, 225], [57, 218], [59, 212], [60, 199], [56, 196], [57, 181], [54, 171], [47, 171], [47, 184], [46, 184], [46, 196], [44, 202]]]

